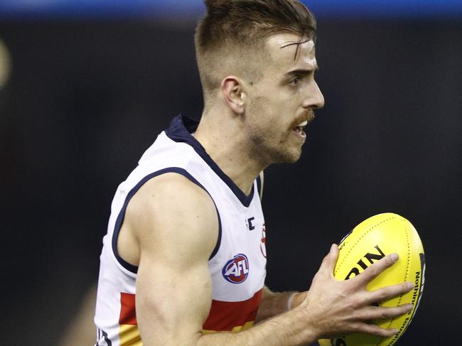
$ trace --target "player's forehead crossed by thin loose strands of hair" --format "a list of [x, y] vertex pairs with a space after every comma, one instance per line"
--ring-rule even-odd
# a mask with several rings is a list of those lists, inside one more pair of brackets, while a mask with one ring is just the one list
[[275, 63], [293, 66], [306, 65], [306, 68], [317, 68], [314, 41], [302, 38], [294, 33], [281, 33], [270, 36], [267, 49]]

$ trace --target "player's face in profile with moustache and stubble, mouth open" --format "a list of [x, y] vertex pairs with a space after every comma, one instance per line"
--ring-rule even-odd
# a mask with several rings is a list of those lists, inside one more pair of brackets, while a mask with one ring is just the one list
[[293, 163], [306, 139], [303, 126], [314, 119], [313, 109], [324, 104], [314, 80], [314, 43], [281, 33], [268, 38], [266, 52], [269, 63], [247, 93], [249, 141], [265, 163]]

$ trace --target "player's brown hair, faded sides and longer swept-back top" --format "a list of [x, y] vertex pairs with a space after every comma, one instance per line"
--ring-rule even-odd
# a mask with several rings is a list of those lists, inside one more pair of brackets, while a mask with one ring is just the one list
[[[205, 101], [222, 77], [261, 77], [269, 59], [264, 44], [279, 33], [316, 41], [316, 19], [297, 0], [205, 0], [207, 13], [195, 31], [195, 53]], [[296, 53], [299, 51], [297, 46]]]

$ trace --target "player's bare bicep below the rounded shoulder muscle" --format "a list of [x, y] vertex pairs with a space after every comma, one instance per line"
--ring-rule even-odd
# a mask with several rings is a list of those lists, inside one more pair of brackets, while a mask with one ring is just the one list
[[180, 268], [141, 256], [136, 316], [144, 345], [195, 345], [210, 310], [211, 295], [207, 262]]

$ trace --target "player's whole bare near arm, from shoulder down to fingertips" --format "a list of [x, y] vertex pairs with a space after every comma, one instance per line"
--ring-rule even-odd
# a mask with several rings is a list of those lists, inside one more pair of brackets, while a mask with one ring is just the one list
[[351, 332], [390, 336], [392, 330], [365, 321], [409, 310], [370, 306], [409, 291], [404, 285], [366, 291], [367, 282], [394, 263], [390, 256], [360, 276], [337, 281], [333, 268], [338, 247], [333, 247], [299, 306], [240, 333], [203, 335], [212, 299], [208, 258], [218, 232], [210, 196], [181, 175], [161, 175], [132, 198], [124, 224], [141, 249], [136, 317], [145, 346], [290, 346]]

